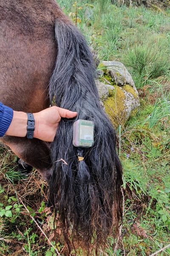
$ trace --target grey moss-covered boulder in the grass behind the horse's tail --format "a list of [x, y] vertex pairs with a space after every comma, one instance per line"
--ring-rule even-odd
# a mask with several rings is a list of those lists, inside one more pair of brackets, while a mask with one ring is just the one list
[[115, 127], [125, 125], [140, 105], [134, 81], [121, 62], [103, 61], [99, 66], [103, 73], [96, 85], [105, 112]]

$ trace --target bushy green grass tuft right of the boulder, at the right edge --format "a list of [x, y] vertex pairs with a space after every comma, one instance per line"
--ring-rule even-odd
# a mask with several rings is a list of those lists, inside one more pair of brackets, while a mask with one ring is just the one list
[[148, 41], [144, 45], [135, 45], [127, 51], [124, 63], [130, 68], [136, 87], [142, 87], [146, 78], [148, 80], [168, 75], [170, 58], [166, 43]]

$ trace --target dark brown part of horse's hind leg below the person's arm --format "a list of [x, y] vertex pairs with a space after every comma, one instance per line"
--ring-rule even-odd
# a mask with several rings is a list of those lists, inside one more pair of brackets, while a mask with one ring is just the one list
[[52, 173], [49, 143], [36, 138], [29, 140], [13, 136], [4, 136], [1, 141], [10, 147], [22, 161], [36, 168], [47, 182], [49, 181]]

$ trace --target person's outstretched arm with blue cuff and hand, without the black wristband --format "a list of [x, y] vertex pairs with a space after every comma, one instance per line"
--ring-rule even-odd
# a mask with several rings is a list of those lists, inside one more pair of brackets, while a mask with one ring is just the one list
[[[3, 130], [0, 131], [0, 136], [3, 136], [5, 133], [5, 135], [26, 137], [28, 120], [27, 114], [25, 112], [13, 111], [3, 104], [1, 104], [1, 106], [2, 109], [0, 110], [2, 111], [0, 114], [2, 116], [1, 124]], [[5, 118], [3, 115], [4, 109], [6, 109], [7, 112], [9, 111], [9, 115], [6, 113]], [[34, 138], [49, 142], [53, 141], [61, 118], [74, 118], [76, 116], [77, 112], [72, 112], [68, 109], [62, 109], [57, 106], [52, 106], [38, 113], [34, 113]], [[3, 124], [3, 122], [6, 124]], [[6, 129], [4, 127], [6, 127]]]

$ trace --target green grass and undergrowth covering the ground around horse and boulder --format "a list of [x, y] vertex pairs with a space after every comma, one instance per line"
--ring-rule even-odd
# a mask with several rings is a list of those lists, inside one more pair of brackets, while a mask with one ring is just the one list
[[[66, 14], [75, 12], [74, 0], [58, 2]], [[149, 256], [170, 244], [170, 10], [104, 0], [77, 0], [77, 6], [82, 6], [77, 26], [88, 43], [100, 60], [127, 66], [141, 102], [118, 131], [125, 197], [122, 236], [116, 251], [110, 237], [101, 255]], [[54, 241], [51, 213], [45, 208], [47, 184], [35, 170], [27, 179], [17, 178], [16, 160], [0, 147], [0, 255], [55, 256], [54, 247], [63, 255], [63, 241]], [[81, 251], [78, 255], [84, 256]], [[168, 255], [170, 248], [158, 254]]]

